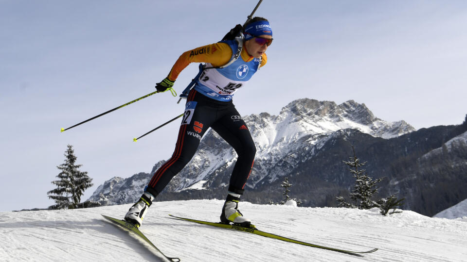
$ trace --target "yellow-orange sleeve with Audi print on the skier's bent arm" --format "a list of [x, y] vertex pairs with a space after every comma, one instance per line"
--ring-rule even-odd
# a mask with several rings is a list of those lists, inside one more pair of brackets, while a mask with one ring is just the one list
[[[198, 47], [182, 53], [170, 70], [167, 78], [175, 81], [180, 72], [190, 63], [211, 63], [213, 66], [223, 66], [232, 58], [232, 49], [226, 43], [215, 43]], [[265, 63], [266, 64], [266, 63]]]

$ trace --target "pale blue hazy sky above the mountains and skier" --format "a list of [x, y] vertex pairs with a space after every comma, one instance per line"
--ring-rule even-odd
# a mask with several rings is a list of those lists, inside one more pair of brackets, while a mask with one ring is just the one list
[[[219, 41], [257, 1], [0, 0], [0, 212], [46, 208], [70, 144], [94, 186], [170, 158], [184, 110], [155, 91], [180, 54]], [[467, 114], [467, 1], [264, 0], [268, 64], [238, 90], [241, 115], [299, 98], [364, 103], [415, 129]], [[174, 88], [198, 73], [192, 64]], [[143, 189], [142, 189], [143, 190]]]

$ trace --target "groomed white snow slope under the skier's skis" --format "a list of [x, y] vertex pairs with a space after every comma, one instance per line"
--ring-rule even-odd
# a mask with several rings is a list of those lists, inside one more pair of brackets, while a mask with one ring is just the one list
[[[172, 213], [217, 221], [221, 200], [156, 202], [142, 231], [182, 262], [218, 261], [466, 261], [467, 223], [410, 211], [384, 217], [377, 210], [297, 208], [242, 202], [265, 231], [323, 246], [380, 248], [355, 257], [245, 232], [169, 218]], [[0, 261], [162, 261], [115, 228], [101, 213], [121, 217], [130, 205], [93, 209], [0, 213]]]

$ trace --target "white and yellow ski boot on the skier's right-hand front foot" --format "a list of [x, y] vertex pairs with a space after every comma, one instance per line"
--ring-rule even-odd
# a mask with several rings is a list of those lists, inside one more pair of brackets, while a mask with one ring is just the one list
[[222, 214], [220, 215], [220, 222], [223, 224], [234, 223], [236, 226], [256, 229], [255, 226], [251, 225], [251, 220], [244, 217], [242, 213], [237, 209], [238, 201], [240, 201], [240, 195], [229, 193], [225, 200], [224, 206], [222, 207]]

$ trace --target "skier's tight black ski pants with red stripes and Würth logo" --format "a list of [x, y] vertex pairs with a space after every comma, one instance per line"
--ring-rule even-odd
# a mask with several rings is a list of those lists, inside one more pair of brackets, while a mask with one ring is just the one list
[[201, 137], [208, 128], [212, 128], [234, 147], [238, 158], [230, 178], [229, 191], [243, 194], [256, 153], [250, 131], [232, 101], [217, 101], [194, 89], [187, 98], [175, 151], [154, 173], [146, 191], [154, 196], [162, 192], [169, 181], [193, 158]]

